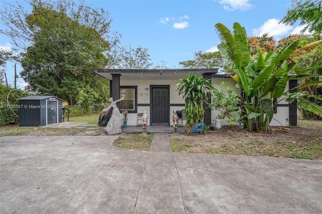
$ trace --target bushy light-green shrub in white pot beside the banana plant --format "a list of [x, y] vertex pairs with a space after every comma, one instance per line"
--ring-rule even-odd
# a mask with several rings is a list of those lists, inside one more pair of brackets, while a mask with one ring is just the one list
[[215, 128], [221, 128], [221, 120], [226, 118], [226, 122], [229, 126], [232, 126], [238, 120], [241, 109], [237, 107], [240, 103], [240, 99], [237, 93], [225, 82], [221, 82], [221, 87], [215, 86], [211, 98], [209, 108], [211, 110], [219, 111], [218, 116], [215, 119]]

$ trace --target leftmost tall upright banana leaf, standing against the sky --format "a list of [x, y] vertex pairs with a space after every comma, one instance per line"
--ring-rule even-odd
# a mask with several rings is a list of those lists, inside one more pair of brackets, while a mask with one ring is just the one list
[[226, 50], [233, 60], [240, 62], [243, 59], [243, 55], [241, 54], [240, 48], [233, 38], [230, 30], [221, 23], [217, 23], [215, 25], [215, 29], [222, 43], [222, 48]]

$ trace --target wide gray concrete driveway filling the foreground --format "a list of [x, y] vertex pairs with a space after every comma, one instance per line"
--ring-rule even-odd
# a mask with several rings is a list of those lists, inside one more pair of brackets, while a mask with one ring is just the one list
[[0, 138], [0, 213], [322, 213], [322, 161], [132, 151], [116, 138]]

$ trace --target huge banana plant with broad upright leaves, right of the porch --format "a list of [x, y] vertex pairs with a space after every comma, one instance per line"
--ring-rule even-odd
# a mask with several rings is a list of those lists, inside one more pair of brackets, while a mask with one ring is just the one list
[[[237, 71], [233, 79], [241, 89], [242, 115], [239, 122], [244, 123], [246, 130], [267, 132], [273, 119], [274, 108], [282, 100], [289, 103], [298, 100], [298, 106], [322, 116], [322, 106], [310, 102], [299, 92], [290, 93], [305, 85], [287, 89], [289, 80], [310, 77], [312, 74], [306, 74], [306, 71], [322, 67], [317, 66], [290, 73], [296, 64], [294, 59], [303, 52], [309, 52], [321, 45], [322, 40], [301, 48], [298, 46], [299, 40], [295, 40], [293, 43], [287, 43], [279, 51], [269, 53], [262, 53], [258, 49], [256, 57], [252, 58], [246, 30], [239, 23], [233, 24], [233, 34], [220, 23], [215, 25], [215, 30], [221, 40], [221, 44], [218, 45], [220, 53], [226, 63]], [[318, 85], [322, 84], [322, 81], [309, 81], [305, 84]]]

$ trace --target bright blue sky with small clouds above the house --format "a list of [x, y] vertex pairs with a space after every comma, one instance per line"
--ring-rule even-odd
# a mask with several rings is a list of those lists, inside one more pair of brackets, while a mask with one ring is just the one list
[[[15, 1], [5, 2], [15, 4]], [[246, 28], [249, 37], [269, 33], [276, 40], [302, 29], [298, 25], [278, 24], [291, 7], [291, 0], [94, 0], [85, 3], [110, 13], [111, 30], [122, 35], [121, 45], [147, 48], [154, 65], [164, 61], [170, 68], [181, 68], [179, 62], [193, 59], [193, 53], [199, 50], [217, 50], [216, 23], [232, 29], [233, 23], [238, 22]], [[11, 40], [1, 35], [0, 48], [11, 47]], [[17, 70], [21, 71], [21, 67]], [[11, 63], [7, 65], [7, 76], [13, 85]], [[23, 79], [18, 80], [22, 86], [19, 82]]]

